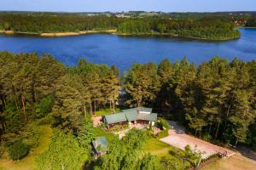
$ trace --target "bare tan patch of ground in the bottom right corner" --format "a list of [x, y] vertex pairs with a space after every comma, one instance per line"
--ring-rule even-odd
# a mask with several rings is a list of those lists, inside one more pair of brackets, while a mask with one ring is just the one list
[[212, 163], [202, 170], [255, 170], [256, 161], [248, 159], [245, 156], [236, 154], [234, 156], [225, 157], [215, 163]]

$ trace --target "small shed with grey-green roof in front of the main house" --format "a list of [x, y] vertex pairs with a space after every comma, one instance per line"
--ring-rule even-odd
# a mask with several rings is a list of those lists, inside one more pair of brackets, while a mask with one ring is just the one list
[[97, 137], [92, 140], [92, 146], [95, 156], [102, 156], [107, 152], [108, 141], [105, 136]]

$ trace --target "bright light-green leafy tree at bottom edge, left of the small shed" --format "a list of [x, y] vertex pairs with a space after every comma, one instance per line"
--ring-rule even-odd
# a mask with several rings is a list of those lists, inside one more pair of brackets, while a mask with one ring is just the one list
[[44, 151], [36, 158], [38, 169], [82, 169], [84, 161], [88, 160], [88, 154], [82, 146], [79, 146], [73, 135], [55, 130], [49, 150]]

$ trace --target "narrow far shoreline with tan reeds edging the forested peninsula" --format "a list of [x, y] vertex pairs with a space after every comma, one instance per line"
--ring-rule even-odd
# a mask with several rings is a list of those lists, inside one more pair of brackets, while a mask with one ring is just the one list
[[[252, 28], [253, 29], [253, 28]], [[6, 35], [32, 35], [38, 37], [70, 37], [70, 36], [81, 36], [86, 34], [113, 34], [122, 37], [173, 37], [173, 38], [187, 38], [191, 40], [200, 40], [200, 41], [212, 41], [212, 42], [224, 42], [224, 41], [232, 41], [239, 39], [240, 37], [228, 38], [228, 39], [208, 39], [203, 37], [180, 37], [177, 34], [172, 33], [140, 33], [140, 34], [130, 34], [130, 33], [119, 33], [117, 30], [106, 30], [106, 31], [70, 31], [70, 32], [20, 32], [20, 31], [0, 31], [1, 34]]]

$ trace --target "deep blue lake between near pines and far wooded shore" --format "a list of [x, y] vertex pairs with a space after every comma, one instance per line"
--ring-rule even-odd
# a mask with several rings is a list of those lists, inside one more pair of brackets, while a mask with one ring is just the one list
[[225, 59], [256, 59], [256, 29], [240, 28], [241, 38], [228, 42], [203, 42], [169, 37], [119, 37], [90, 34], [77, 37], [29, 37], [0, 34], [0, 51], [52, 54], [65, 65], [85, 58], [92, 63], [117, 65], [121, 71], [133, 63], [172, 62], [187, 56], [196, 65], [221, 56]]

